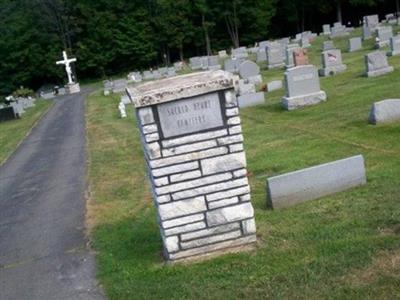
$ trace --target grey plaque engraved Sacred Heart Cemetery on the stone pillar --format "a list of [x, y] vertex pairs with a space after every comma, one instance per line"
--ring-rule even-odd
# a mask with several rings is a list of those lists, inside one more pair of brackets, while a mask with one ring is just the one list
[[218, 93], [159, 104], [157, 112], [165, 138], [224, 125]]

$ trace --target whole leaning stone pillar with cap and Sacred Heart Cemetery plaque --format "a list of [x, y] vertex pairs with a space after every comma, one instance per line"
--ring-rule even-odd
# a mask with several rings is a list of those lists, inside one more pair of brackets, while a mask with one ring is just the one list
[[164, 255], [176, 261], [256, 241], [233, 76], [209, 71], [129, 88]]

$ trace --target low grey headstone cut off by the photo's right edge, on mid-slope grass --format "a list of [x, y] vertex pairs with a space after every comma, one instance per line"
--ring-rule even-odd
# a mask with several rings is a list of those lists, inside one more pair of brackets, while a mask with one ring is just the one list
[[400, 99], [375, 102], [369, 114], [369, 122], [377, 125], [400, 120]]

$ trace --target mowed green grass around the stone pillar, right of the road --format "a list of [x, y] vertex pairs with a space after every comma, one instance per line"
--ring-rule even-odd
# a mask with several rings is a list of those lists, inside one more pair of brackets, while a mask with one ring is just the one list
[[[354, 32], [352, 35], [356, 35]], [[400, 98], [395, 72], [363, 77], [366, 49], [347, 53], [348, 71], [321, 79], [328, 101], [284, 111], [284, 90], [241, 110], [256, 250], [193, 264], [165, 264], [133, 108], [94, 93], [87, 108], [88, 224], [98, 279], [110, 299], [399, 299], [400, 122], [372, 126], [371, 105]], [[310, 59], [321, 65], [321, 38]], [[283, 70], [263, 71], [266, 81]], [[362, 154], [368, 184], [282, 210], [266, 208], [266, 179]]]

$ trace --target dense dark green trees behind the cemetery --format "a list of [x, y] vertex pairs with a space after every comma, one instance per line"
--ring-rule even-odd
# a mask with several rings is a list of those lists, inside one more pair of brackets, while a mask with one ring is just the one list
[[65, 81], [55, 64], [64, 49], [80, 80], [104, 78], [319, 31], [338, 3], [352, 22], [396, 9], [392, 0], [0, 0], [0, 95]]

